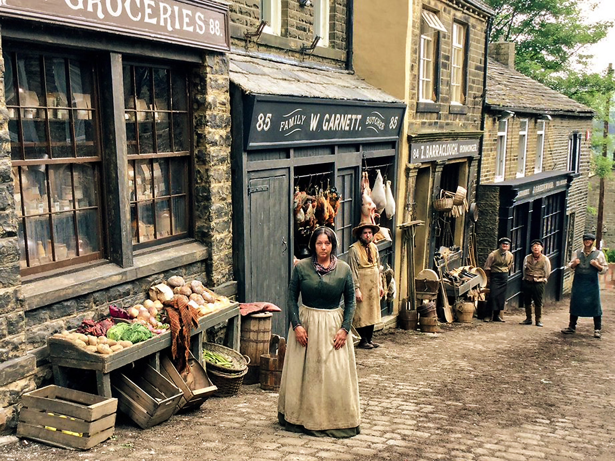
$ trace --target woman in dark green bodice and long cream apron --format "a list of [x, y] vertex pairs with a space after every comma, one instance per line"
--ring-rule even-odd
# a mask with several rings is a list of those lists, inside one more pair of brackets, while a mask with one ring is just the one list
[[359, 382], [349, 337], [355, 310], [352, 274], [335, 256], [333, 230], [318, 227], [309, 247], [312, 258], [299, 261], [290, 280], [291, 327], [278, 419], [293, 432], [352, 437], [360, 432]]

